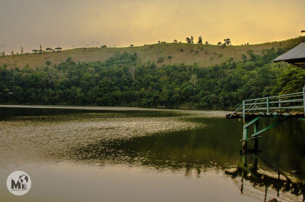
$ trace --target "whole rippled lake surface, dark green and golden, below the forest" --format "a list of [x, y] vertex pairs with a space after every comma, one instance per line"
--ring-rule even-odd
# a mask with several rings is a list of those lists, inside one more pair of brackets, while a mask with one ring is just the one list
[[[262, 133], [243, 154], [228, 113], [2, 106], [0, 201], [304, 201], [305, 122]], [[32, 181], [23, 196], [5, 184], [17, 170]]]

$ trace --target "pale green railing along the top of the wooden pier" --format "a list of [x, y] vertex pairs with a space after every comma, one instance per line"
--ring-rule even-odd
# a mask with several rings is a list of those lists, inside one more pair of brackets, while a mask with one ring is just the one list
[[241, 108], [243, 120], [245, 120], [245, 114], [252, 111], [253, 113], [258, 111], [271, 112], [272, 110], [279, 110], [279, 112], [281, 112], [282, 109], [288, 108], [303, 108], [305, 115], [305, 87], [303, 87], [303, 92], [299, 93], [243, 100], [239, 108], [237, 108], [235, 112], [229, 116], [229, 118], [239, 112]]

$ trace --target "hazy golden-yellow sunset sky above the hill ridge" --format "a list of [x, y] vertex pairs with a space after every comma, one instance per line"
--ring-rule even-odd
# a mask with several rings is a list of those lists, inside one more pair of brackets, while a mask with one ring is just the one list
[[0, 0], [0, 52], [303, 36], [305, 0]]

